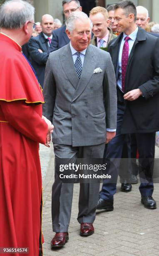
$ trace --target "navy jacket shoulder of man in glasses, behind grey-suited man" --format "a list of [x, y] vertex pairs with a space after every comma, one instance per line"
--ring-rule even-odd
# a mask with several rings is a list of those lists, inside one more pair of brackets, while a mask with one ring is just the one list
[[70, 42], [66, 32], [66, 25], [57, 28], [52, 32], [52, 42], [50, 45], [50, 52], [56, 51]]

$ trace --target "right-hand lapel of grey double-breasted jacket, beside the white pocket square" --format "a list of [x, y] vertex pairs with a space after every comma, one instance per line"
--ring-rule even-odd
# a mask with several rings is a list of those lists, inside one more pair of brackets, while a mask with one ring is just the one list
[[73, 101], [80, 96], [80, 94], [84, 91], [87, 84], [89, 83], [89, 80], [91, 79], [93, 71], [96, 67], [97, 59], [98, 57], [97, 54], [94, 53], [93, 46], [89, 45], [84, 57], [82, 73], [79, 79], [79, 83], [77, 85], [77, 90], [75, 91], [75, 94], [73, 96]]

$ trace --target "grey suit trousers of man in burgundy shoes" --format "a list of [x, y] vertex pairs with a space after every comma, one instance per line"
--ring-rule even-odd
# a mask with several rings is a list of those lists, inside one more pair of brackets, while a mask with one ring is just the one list
[[[65, 164], [75, 163], [78, 158], [103, 158], [105, 143], [94, 146], [72, 147], [54, 143], [55, 182], [52, 186], [52, 229], [54, 232], [67, 232], [71, 217], [74, 183], [63, 183], [59, 178], [58, 164], [60, 159]], [[80, 183], [79, 223], [93, 223], [99, 197], [100, 183]]]

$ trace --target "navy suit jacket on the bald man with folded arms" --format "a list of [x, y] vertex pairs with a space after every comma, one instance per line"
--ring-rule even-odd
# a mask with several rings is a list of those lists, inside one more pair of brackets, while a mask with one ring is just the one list
[[[40, 53], [38, 49], [41, 49], [42, 53]], [[45, 66], [50, 54], [50, 47], [48, 46], [48, 40], [45, 38], [42, 32], [38, 36], [30, 38], [29, 52], [30, 62], [32, 67], [35, 69], [35, 73], [40, 85], [43, 87]]]

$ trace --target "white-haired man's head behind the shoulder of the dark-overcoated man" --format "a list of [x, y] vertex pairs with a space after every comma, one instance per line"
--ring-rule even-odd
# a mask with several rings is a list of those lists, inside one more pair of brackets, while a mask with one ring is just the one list
[[147, 24], [149, 23], [149, 12], [144, 6], [137, 6], [137, 20], [136, 24], [140, 28], [146, 29]]

